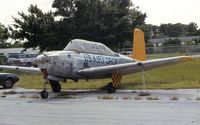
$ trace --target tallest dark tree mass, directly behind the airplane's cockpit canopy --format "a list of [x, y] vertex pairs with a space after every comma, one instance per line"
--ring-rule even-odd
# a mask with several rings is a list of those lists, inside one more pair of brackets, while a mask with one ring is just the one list
[[63, 17], [63, 28], [71, 24], [72, 39], [103, 42], [112, 48], [130, 41], [132, 28], [144, 24], [146, 17], [130, 0], [54, 0], [52, 6], [55, 15]]

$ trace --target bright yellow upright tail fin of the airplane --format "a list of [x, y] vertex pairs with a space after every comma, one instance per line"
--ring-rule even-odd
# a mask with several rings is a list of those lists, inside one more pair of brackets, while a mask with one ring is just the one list
[[144, 40], [144, 32], [138, 28], [134, 29], [134, 38], [133, 38], [133, 54], [129, 57], [132, 57], [139, 61], [146, 60], [146, 48]]

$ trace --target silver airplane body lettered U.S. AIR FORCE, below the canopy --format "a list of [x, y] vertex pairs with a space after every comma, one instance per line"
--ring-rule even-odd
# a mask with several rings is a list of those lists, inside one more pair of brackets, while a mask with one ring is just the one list
[[134, 60], [127, 56], [116, 53], [114, 56], [82, 53], [75, 51], [54, 51], [45, 53], [43, 56], [45, 63], [40, 63], [40, 69], [46, 69], [48, 79], [51, 80], [63, 80], [63, 79], [93, 79], [93, 78], [104, 78], [106, 76], [98, 76], [97, 74], [87, 76], [81, 76], [77, 73], [77, 70], [116, 65], [122, 63], [130, 63]]

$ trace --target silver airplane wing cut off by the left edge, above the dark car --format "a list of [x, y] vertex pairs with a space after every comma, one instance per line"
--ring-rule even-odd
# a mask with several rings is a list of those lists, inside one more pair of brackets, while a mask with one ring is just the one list
[[17, 71], [29, 72], [29, 73], [42, 73], [39, 68], [34, 68], [34, 67], [20, 67], [20, 66], [0, 65], [0, 69], [17, 70]]

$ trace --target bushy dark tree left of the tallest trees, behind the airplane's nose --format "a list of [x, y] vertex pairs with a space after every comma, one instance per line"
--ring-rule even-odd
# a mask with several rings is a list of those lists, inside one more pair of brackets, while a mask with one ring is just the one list
[[56, 47], [55, 21], [52, 12], [43, 13], [37, 5], [30, 5], [28, 14], [18, 12], [20, 18], [13, 18], [14, 24], [12, 38], [16, 41], [25, 41], [24, 48], [39, 47], [42, 52], [47, 47], [54, 49]]

